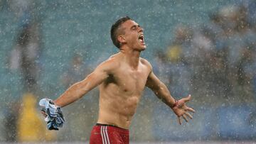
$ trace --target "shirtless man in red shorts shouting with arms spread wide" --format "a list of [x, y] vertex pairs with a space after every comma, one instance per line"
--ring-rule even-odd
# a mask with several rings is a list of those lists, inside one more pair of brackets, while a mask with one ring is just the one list
[[99, 85], [100, 109], [90, 144], [129, 143], [128, 129], [145, 86], [176, 113], [178, 123], [181, 124], [181, 117], [185, 121], [192, 118], [188, 111], [194, 110], [185, 104], [191, 96], [176, 101], [152, 72], [150, 63], [139, 57], [146, 44], [138, 23], [129, 17], [120, 18], [112, 25], [111, 38], [119, 52], [54, 101], [57, 106], [67, 106]]

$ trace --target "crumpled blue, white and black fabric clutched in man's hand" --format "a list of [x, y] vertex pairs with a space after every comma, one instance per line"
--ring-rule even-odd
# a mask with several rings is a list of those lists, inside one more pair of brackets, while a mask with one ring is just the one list
[[65, 118], [60, 106], [56, 106], [51, 99], [41, 99], [39, 105], [43, 106], [41, 111], [46, 112], [45, 121], [47, 121], [48, 130], [58, 131], [58, 128], [63, 127]]

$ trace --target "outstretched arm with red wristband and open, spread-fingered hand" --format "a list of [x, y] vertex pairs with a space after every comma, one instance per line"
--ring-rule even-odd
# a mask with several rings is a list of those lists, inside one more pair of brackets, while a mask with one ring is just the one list
[[178, 116], [178, 123], [181, 124], [181, 117], [184, 118], [185, 121], [188, 122], [188, 116], [189, 118], [193, 118], [188, 111], [195, 112], [193, 109], [186, 106], [186, 102], [188, 102], [191, 99], [191, 95], [187, 96], [186, 98], [175, 100], [169, 90], [167, 89], [166, 85], [161, 82], [156, 75], [152, 72], [149, 74], [149, 77], [146, 81], [146, 87], [149, 87], [156, 96], [159, 97], [164, 103], [169, 106], [174, 113]]

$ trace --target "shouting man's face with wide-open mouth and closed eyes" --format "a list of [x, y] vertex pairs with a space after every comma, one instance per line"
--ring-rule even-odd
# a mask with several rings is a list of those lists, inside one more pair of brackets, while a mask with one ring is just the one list
[[128, 20], [122, 23], [122, 28], [124, 28], [123, 37], [125, 39], [125, 44], [127, 44], [129, 48], [139, 51], [146, 49], [143, 28], [140, 27], [138, 23]]

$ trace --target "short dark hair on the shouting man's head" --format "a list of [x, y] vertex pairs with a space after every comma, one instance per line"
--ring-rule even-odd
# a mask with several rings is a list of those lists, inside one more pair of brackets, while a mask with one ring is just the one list
[[128, 16], [125, 16], [125, 17], [122, 17], [122, 18], [119, 18], [112, 26], [111, 26], [111, 31], [110, 31], [110, 34], [111, 34], [111, 39], [112, 39], [112, 42], [113, 44], [117, 47], [117, 48], [120, 48], [120, 43], [119, 41], [117, 40], [117, 30], [118, 28], [122, 25], [122, 23], [124, 23], [125, 21], [128, 21], [128, 20], [132, 20], [132, 18], [129, 18]]

